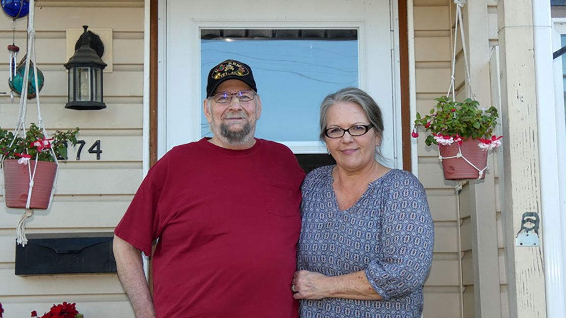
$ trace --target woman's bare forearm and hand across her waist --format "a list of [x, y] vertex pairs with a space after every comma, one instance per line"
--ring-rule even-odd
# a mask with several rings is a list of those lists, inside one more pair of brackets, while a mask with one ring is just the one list
[[379, 300], [381, 296], [371, 287], [363, 270], [341, 276], [299, 270], [293, 277], [295, 299], [348, 298]]

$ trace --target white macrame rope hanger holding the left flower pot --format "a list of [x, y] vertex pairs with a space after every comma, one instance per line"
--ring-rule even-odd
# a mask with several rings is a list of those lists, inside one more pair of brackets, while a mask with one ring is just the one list
[[[33, 65], [33, 80], [35, 83], [35, 90], [36, 90], [36, 104], [37, 104], [37, 127], [42, 131], [44, 135], [44, 140], [48, 139], [47, 131], [45, 130], [45, 126], [43, 123], [43, 119], [41, 118], [41, 109], [40, 109], [40, 94], [39, 94], [39, 85], [37, 80], [37, 63], [36, 63], [36, 50], [35, 50], [35, 29], [33, 27], [33, 20], [34, 20], [34, 0], [29, 0], [29, 16], [28, 16], [28, 45], [26, 49], [26, 57], [25, 57], [25, 71], [23, 77], [23, 85], [22, 85], [22, 92], [20, 93], [20, 113], [18, 123], [16, 124], [16, 128], [14, 129], [14, 139], [12, 140], [10, 145], [13, 145], [16, 141], [17, 136], [25, 137], [25, 114], [27, 113], [27, 101], [28, 101], [28, 76], [29, 76], [29, 66], [30, 63]], [[26, 150], [27, 151], [27, 150]], [[49, 198], [49, 205], [48, 209], [51, 206], [53, 201], [53, 195], [55, 193], [55, 184], [57, 184], [57, 175], [59, 172], [59, 162], [57, 160], [57, 156], [55, 155], [55, 151], [53, 150], [53, 145], [49, 143], [49, 152], [53, 156], [54, 162], [57, 165], [57, 169], [55, 170], [55, 178], [53, 181], [53, 188], [51, 191], [51, 196]], [[20, 218], [18, 222], [18, 226], [16, 227], [16, 243], [25, 246], [28, 240], [25, 237], [25, 223], [27, 219], [33, 216], [33, 210], [29, 208], [31, 203], [31, 198], [33, 194], [33, 179], [35, 178], [36, 170], [37, 170], [37, 162], [39, 160], [38, 157], [39, 153], [36, 154], [35, 161], [30, 160], [27, 164], [28, 172], [29, 172], [29, 189], [28, 189], [28, 197], [27, 202], [25, 203], [25, 212]], [[5, 157], [1, 157], [2, 166], [4, 166]], [[33, 158], [32, 158], [33, 159]], [[32, 162], [34, 162], [32, 167]], [[3, 171], [3, 170], [2, 170]], [[6, 192], [5, 187], [2, 187], [2, 195], [4, 196], [6, 203]]]

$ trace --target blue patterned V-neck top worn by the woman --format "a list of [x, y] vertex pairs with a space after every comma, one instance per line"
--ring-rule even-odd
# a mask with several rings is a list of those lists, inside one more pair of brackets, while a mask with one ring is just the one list
[[422, 184], [413, 174], [393, 169], [340, 211], [332, 168], [315, 169], [303, 182], [297, 267], [327, 276], [365, 270], [383, 299], [301, 300], [301, 318], [420, 317], [434, 245]]

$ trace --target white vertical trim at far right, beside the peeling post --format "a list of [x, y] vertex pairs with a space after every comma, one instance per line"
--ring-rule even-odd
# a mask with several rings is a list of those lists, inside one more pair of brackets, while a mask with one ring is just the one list
[[[560, 184], [552, 70], [552, 21], [550, 1], [533, 0], [535, 81], [537, 90], [538, 142], [541, 173], [544, 282], [548, 317], [563, 317], [564, 264], [560, 217]], [[564, 229], [566, 230], [566, 229]]]

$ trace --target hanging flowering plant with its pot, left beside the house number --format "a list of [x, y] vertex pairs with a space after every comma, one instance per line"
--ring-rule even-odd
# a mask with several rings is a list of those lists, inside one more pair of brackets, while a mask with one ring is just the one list
[[[30, 194], [30, 209], [49, 207], [57, 174], [53, 155], [58, 160], [66, 160], [67, 143], [75, 145], [78, 132], [79, 128], [56, 131], [50, 138], [46, 138], [35, 123], [29, 126], [25, 136], [14, 136], [14, 132], [0, 128], [0, 158], [4, 171], [6, 207], [25, 208]], [[33, 187], [30, 187], [31, 184]]]

